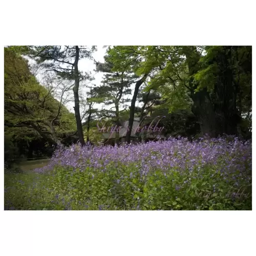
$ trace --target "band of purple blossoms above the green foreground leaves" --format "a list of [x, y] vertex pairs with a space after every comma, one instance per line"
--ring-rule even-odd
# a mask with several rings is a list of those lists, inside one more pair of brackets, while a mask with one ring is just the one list
[[[131, 144], [124, 146], [89, 146], [73, 144], [69, 148], [59, 147], [50, 163], [35, 172], [49, 172], [56, 166], [71, 167], [81, 172], [87, 168], [104, 172], [120, 165], [133, 164], [141, 175], [155, 170], [164, 173], [170, 169], [178, 171], [203, 169], [212, 166], [221, 173], [248, 172], [252, 168], [252, 143], [233, 138], [201, 138], [189, 141], [186, 138], [170, 138], [165, 141]], [[133, 174], [131, 173], [131, 176]], [[248, 176], [250, 179], [250, 176]], [[179, 189], [177, 187], [177, 189]]]

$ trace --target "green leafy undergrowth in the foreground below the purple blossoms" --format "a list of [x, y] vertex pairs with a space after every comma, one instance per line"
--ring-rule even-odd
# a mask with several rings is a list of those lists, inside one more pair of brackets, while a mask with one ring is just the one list
[[[135, 164], [111, 164], [105, 172], [57, 167], [51, 174], [13, 175], [6, 184], [6, 209], [20, 210], [251, 210], [251, 186], [223, 181], [210, 166], [193, 172], [141, 177]], [[242, 179], [241, 179], [242, 180]], [[233, 195], [236, 193], [236, 195]], [[11, 202], [11, 203], [10, 203]]]

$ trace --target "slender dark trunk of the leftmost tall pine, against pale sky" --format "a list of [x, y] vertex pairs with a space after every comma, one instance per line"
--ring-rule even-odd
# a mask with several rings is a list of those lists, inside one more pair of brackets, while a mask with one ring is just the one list
[[76, 117], [78, 139], [79, 139], [81, 145], [83, 146], [85, 144], [85, 142], [84, 142], [83, 132], [82, 132], [82, 121], [81, 121], [81, 116], [80, 116], [79, 95], [78, 95], [78, 90], [79, 90], [78, 60], [79, 60], [79, 48], [78, 48], [78, 46], [76, 46], [76, 58], [75, 58], [75, 62], [74, 62], [75, 86], [73, 87], [74, 98], [75, 98], [74, 110], [75, 110], [75, 117]]

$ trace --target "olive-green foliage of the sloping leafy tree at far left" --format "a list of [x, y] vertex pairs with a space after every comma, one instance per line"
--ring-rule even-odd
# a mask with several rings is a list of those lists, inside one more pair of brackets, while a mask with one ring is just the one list
[[[63, 102], [54, 98], [56, 95], [53, 94], [52, 87], [39, 84], [29, 70], [28, 61], [18, 55], [15, 49], [5, 48], [4, 64], [5, 124], [8, 125], [5, 127], [6, 132], [11, 134], [15, 131], [16, 138], [29, 137], [29, 140], [32, 140], [40, 135], [50, 140], [53, 134], [49, 123], [53, 119], [56, 136], [59, 132], [76, 129], [74, 115], [63, 106]], [[47, 80], [47, 82], [61, 81]], [[56, 138], [54, 140], [56, 142]], [[52, 140], [50, 143], [53, 144]]]

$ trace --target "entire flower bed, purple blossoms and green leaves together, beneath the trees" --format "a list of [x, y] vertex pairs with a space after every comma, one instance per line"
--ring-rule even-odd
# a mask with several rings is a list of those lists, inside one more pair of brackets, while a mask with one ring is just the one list
[[[251, 141], [169, 139], [60, 147], [33, 181], [6, 186], [6, 208], [250, 210]], [[11, 187], [11, 189], [10, 189]], [[14, 189], [15, 187], [15, 189]], [[9, 190], [8, 190], [9, 189]]]

